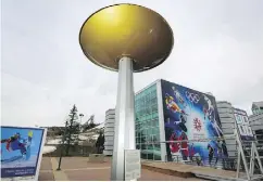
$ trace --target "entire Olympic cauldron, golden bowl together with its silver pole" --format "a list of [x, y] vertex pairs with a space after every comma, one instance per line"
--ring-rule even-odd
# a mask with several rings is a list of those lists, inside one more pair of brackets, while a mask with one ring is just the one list
[[114, 4], [91, 14], [79, 32], [84, 54], [96, 65], [118, 72], [111, 180], [124, 180], [124, 150], [135, 150], [133, 73], [162, 64], [173, 31], [156, 12], [136, 4]]

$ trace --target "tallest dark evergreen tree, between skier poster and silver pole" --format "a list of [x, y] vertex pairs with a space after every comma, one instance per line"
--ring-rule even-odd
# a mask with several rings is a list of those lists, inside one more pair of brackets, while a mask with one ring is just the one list
[[73, 108], [71, 109], [70, 113], [70, 118], [66, 121], [66, 131], [65, 131], [65, 143], [66, 143], [66, 155], [70, 153], [70, 146], [72, 144], [77, 144], [79, 139], [78, 134], [80, 132], [80, 123], [78, 121], [78, 115], [77, 115], [77, 107], [74, 104]]

